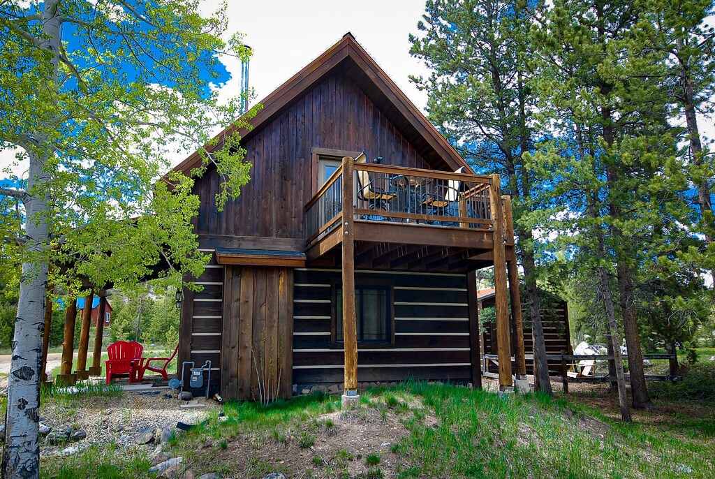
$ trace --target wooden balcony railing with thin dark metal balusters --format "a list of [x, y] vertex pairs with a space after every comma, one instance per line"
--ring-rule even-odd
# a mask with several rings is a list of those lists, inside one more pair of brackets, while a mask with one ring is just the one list
[[[345, 160], [344, 160], [345, 161]], [[355, 219], [460, 229], [493, 229], [493, 177], [355, 163]], [[308, 243], [340, 224], [342, 165], [305, 205]]]

